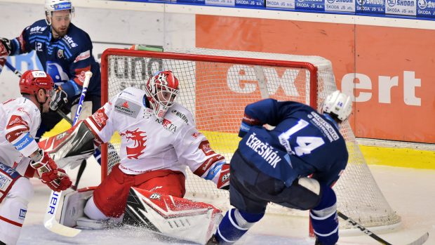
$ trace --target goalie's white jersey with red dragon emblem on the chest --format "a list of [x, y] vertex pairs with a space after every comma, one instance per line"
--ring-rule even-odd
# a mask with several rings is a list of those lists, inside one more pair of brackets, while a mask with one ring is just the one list
[[[145, 91], [126, 88], [85, 121], [97, 140], [107, 143], [115, 131], [121, 135], [123, 173], [137, 175], [158, 169], [198, 176], [224, 159], [210, 147], [195, 126], [192, 113], [175, 103], [162, 120], [147, 107]], [[200, 168], [201, 167], [201, 168]]]

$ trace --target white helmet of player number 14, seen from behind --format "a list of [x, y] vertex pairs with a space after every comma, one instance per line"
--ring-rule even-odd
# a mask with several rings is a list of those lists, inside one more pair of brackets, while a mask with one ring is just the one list
[[352, 99], [349, 95], [334, 91], [326, 96], [322, 106], [323, 113], [333, 113], [340, 121], [345, 121], [352, 113]]

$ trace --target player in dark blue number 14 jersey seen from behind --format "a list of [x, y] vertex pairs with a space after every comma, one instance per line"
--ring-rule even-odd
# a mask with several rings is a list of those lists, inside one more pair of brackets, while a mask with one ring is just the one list
[[[260, 100], [246, 106], [230, 163], [229, 199], [235, 208], [222, 219], [208, 244], [232, 244], [264, 215], [269, 201], [309, 216], [316, 244], [338, 240], [335, 192], [331, 188], [347, 165], [340, 124], [352, 100], [340, 91], [327, 96], [319, 114], [299, 102]], [[263, 125], [274, 126], [267, 130]], [[307, 178], [307, 176], [311, 178]]]

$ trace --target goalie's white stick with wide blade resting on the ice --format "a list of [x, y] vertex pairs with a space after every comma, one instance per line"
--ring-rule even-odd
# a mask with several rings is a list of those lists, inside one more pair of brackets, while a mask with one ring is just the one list
[[[83, 89], [81, 90], [79, 106], [77, 107], [76, 116], [74, 117], [74, 121], [72, 124], [73, 126], [76, 124], [76, 122], [79, 119], [81, 108], [83, 105], [83, 100], [85, 98], [86, 91], [88, 91], [89, 80], [91, 79], [91, 77], [92, 77], [92, 72], [85, 73], [85, 81], [83, 82]], [[60, 234], [65, 237], [74, 237], [76, 236], [76, 234], [79, 234], [81, 230], [72, 227], [67, 227], [65, 225], [60, 224], [58, 220], [56, 220], [56, 211], [58, 210], [59, 207], [61, 195], [62, 195], [62, 191], [51, 192], [50, 200], [48, 201], [47, 211], [44, 216], [44, 227], [46, 227], [51, 232]]]

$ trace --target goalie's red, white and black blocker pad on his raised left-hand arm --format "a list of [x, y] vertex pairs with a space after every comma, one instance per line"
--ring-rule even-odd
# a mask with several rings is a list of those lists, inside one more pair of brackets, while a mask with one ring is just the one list
[[44, 152], [48, 152], [59, 168], [65, 168], [68, 164], [71, 168], [76, 168], [93, 154], [94, 139], [91, 130], [81, 121], [63, 133], [40, 141], [38, 145]]

